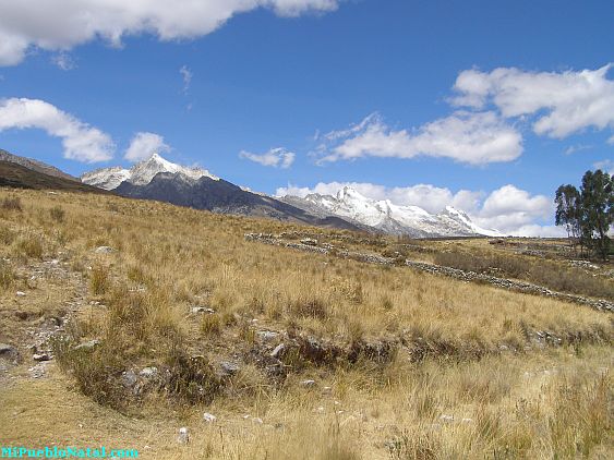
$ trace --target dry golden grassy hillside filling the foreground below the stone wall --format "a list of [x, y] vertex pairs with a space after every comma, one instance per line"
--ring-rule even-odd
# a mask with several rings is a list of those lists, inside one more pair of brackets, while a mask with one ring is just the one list
[[[508, 250], [0, 190], [0, 342], [21, 354], [0, 361], [3, 444], [103, 444], [165, 459], [607, 458], [614, 449], [610, 313], [258, 244], [248, 232], [306, 232], [430, 262]], [[613, 281], [600, 270], [607, 293]], [[34, 362], [33, 342], [53, 359]], [[188, 444], [177, 440], [182, 426]]]

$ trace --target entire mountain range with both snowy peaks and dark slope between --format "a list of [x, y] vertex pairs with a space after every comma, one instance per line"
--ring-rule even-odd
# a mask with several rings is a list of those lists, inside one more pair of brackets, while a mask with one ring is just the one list
[[323, 227], [412, 238], [499, 234], [478, 227], [467, 214], [449, 206], [434, 215], [418, 206], [398, 206], [388, 199], [373, 201], [348, 186], [336, 196], [311, 194], [305, 197], [274, 197], [254, 193], [206, 169], [182, 167], [158, 154], [131, 169], [97, 169], [83, 174], [81, 180], [132, 198], [157, 199], [215, 213], [272, 217]]

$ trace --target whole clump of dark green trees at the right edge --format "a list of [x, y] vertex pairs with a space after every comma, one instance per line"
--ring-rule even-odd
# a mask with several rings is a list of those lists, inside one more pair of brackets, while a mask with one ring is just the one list
[[555, 223], [565, 227], [574, 246], [579, 245], [582, 254], [586, 250], [607, 258], [613, 250], [609, 232], [614, 223], [614, 174], [587, 171], [580, 190], [561, 185], [554, 203]]

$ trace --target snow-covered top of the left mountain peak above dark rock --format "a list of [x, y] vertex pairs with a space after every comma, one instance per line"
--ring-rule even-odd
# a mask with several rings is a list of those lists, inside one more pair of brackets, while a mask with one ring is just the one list
[[152, 179], [159, 172], [169, 172], [171, 174], [180, 173], [191, 179], [209, 178], [215, 181], [219, 180], [218, 177], [212, 174], [206, 169], [186, 168], [170, 162], [158, 154], [154, 154], [130, 169], [112, 167], [86, 172], [81, 177], [81, 181], [99, 189], [115, 190], [124, 181], [134, 185], [146, 185], [152, 182]]

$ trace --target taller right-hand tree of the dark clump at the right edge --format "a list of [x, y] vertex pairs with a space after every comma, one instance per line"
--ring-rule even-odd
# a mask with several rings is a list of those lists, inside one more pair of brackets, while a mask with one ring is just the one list
[[598, 169], [582, 178], [580, 229], [582, 238], [603, 258], [610, 252], [607, 232], [614, 222], [614, 178]]

